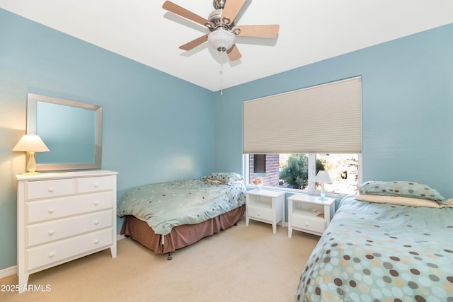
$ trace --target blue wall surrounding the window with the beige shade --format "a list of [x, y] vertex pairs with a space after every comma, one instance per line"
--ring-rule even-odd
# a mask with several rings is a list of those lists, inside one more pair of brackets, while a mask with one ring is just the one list
[[452, 198], [452, 24], [224, 89], [215, 169], [242, 171], [243, 100], [359, 75], [363, 180], [421, 182]]

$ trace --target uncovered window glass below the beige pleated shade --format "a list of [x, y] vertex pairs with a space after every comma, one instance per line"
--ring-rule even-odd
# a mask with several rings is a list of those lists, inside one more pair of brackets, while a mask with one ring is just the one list
[[[256, 155], [247, 154], [246, 162], [254, 161]], [[246, 180], [253, 185], [253, 180], [260, 177], [264, 187], [278, 187], [309, 194], [319, 194], [321, 184], [313, 182], [319, 170], [326, 170], [332, 184], [325, 184], [324, 189], [330, 196], [341, 197], [355, 194], [360, 184], [361, 156], [357, 153], [343, 154], [266, 154], [267, 172], [256, 173], [253, 165], [246, 165]]]

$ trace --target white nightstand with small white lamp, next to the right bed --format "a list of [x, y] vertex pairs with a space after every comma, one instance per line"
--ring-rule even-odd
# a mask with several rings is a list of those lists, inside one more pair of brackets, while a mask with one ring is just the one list
[[288, 197], [288, 237], [292, 230], [321, 236], [331, 222], [335, 199], [319, 200], [317, 196], [294, 194]]

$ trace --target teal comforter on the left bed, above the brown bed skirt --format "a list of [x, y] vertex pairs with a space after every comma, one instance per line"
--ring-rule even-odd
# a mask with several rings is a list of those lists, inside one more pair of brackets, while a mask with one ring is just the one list
[[245, 202], [243, 180], [194, 178], [135, 187], [122, 197], [117, 214], [134, 215], [154, 233], [167, 235], [175, 226], [207, 221]]

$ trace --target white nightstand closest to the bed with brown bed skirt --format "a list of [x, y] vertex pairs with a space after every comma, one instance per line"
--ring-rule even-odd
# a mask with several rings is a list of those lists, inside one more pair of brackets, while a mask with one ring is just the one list
[[285, 193], [265, 190], [251, 190], [246, 194], [246, 226], [249, 219], [272, 224], [277, 233], [277, 223], [285, 226]]

